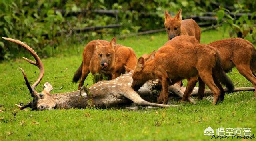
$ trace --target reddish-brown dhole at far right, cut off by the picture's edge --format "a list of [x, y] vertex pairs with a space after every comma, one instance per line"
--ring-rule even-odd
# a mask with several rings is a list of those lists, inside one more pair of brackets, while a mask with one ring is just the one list
[[[230, 38], [211, 42], [209, 45], [218, 50], [225, 72], [236, 66], [239, 73], [256, 88], [256, 50], [252, 43], [242, 38]], [[256, 92], [254, 95], [256, 96]]]

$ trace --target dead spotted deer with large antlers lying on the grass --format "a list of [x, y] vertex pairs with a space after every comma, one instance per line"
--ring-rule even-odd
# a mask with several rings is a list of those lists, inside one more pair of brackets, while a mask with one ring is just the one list
[[[3, 37], [4, 38], [4, 37]], [[176, 107], [177, 105], [164, 105], [156, 104], [145, 101], [136, 93], [132, 85], [132, 72], [126, 73], [110, 81], [100, 81], [90, 86], [89, 89], [72, 91], [67, 93], [54, 93], [50, 94], [53, 87], [50, 83], [44, 83], [42, 92], [36, 91], [36, 86], [40, 83], [44, 75], [43, 64], [32, 48], [19, 40], [11, 38], [4, 38], [5, 40], [14, 42], [24, 47], [36, 60], [36, 62], [24, 58], [30, 64], [37, 66], [40, 70], [40, 75], [36, 82], [31, 86], [25, 72], [20, 68], [24, 76], [26, 85], [30, 91], [33, 101], [23, 105], [20, 109], [30, 107], [32, 110], [50, 110], [50, 109], [68, 109], [68, 108], [86, 108], [92, 107], [120, 107], [134, 102], [140, 106], [153, 106], [153, 107]]]

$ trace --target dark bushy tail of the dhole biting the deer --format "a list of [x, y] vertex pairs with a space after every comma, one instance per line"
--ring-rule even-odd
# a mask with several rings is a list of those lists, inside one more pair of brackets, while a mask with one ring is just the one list
[[226, 86], [229, 92], [232, 92], [234, 90], [234, 85], [232, 81], [222, 69], [220, 57], [217, 57], [215, 67], [213, 69], [213, 75], [218, 79], [218, 81], [220, 81], [220, 83]]

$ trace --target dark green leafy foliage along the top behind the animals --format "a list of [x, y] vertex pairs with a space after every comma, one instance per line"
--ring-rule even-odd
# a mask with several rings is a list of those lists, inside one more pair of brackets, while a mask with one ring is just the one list
[[[130, 34], [145, 30], [164, 28], [164, 10], [175, 13], [182, 8], [182, 15], [202, 15], [221, 7], [230, 11], [255, 11], [255, 0], [1, 0], [0, 35], [15, 38], [30, 44], [41, 56], [54, 56], [60, 44], [80, 42], [86, 39], [104, 38], [108, 35]], [[117, 15], [97, 14], [93, 10], [119, 10]], [[220, 22], [223, 11], [218, 11]], [[253, 22], [243, 17], [239, 23], [233, 23], [235, 30], [247, 33]], [[241, 27], [246, 23], [242, 29]], [[72, 29], [90, 26], [120, 24], [119, 29], [102, 29], [93, 32], [74, 33]], [[252, 27], [251, 30], [254, 28]], [[255, 31], [255, 30], [253, 30]], [[75, 35], [72, 38], [70, 34]], [[113, 35], [114, 34], [114, 35]], [[246, 34], [254, 40], [254, 34]], [[23, 54], [18, 46], [0, 40], [0, 60], [15, 58]], [[68, 46], [64, 50], [67, 50]]]

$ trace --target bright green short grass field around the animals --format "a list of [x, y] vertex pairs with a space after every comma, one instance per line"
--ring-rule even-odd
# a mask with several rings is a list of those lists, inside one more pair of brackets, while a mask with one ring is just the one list
[[[228, 38], [221, 30], [203, 32], [202, 43]], [[106, 37], [110, 40], [111, 37]], [[137, 56], [159, 48], [167, 40], [165, 32], [117, 40], [118, 44], [132, 47]], [[45, 75], [36, 88], [42, 90], [46, 81], [54, 87], [52, 93], [74, 91], [78, 84], [72, 77], [82, 61], [84, 44], [74, 44], [63, 55], [42, 59]], [[64, 46], [64, 45], [63, 45]], [[31, 46], [33, 48], [33, 46]], [[68, 55], [67, 52], [72, 52]], [[29, 57], [29, 56], [26, 56]], [[21, 56], [20, 56], [21, 58]], [[184, 103], [178, 108], [147, 109], [69, 109], [54, 111], [19, 111], [14, 103], [30, 101], [21, 66], [30, 81], [38, 77], [38, 68], [22, 59], [0, 64], [0, 141], [211, 141], [242, 139], [210, 139], [204, 135], [208, 126], [216, 131], [224, 128], [251, 128], [256, 136], [256, 99], [254, 91], [226, 95], [223, 103], [211, 105], [211, 100]], [[236, 69], [228, 74], [236, 87], [252, 87]], [[86, 79], [92, 84], [92, 75]], [[254, 139], [245, 139], [246, 141]]]

